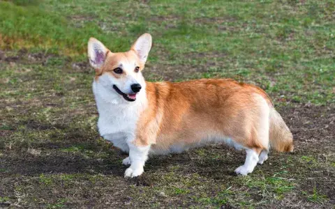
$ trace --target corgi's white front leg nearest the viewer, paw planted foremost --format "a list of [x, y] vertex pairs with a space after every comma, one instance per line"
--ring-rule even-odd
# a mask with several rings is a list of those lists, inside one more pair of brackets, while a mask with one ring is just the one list
[[126, 169], [124, 177], [140, 176], [144, 172], [144, 164], [148, 159], [149, 146], [136, 146], [133, 142], [128, 143], [129, 146], [129, 160], [131, 167]]

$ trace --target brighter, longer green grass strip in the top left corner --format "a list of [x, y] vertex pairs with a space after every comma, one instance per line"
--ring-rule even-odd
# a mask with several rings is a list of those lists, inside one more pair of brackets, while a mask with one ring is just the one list
[[[120, 50], [127, 40], [102, 36], [96, 24], [88, 23], [80, 29], [69, 26], [62, 15], [55, 15], [39, 7], [22, 7], [8, 1], [0, 2], [1, 47], [32, 48], [47, 53], [82, 55], [87, 51], [87, 41], [94, 36], [107, 45]], [[43, 40], [43, 41], [41, 41]]]

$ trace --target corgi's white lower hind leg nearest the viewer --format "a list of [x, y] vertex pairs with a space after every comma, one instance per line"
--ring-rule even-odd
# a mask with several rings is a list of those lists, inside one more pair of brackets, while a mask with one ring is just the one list
[[253, 172], [258, 162], [258, 155], [260, 155], [260, 150], [246, 149], [246, 161], [244, 165], [241, 165], [235, 169], [235, 173], [242, 176], [246, 176], [248, 173]]

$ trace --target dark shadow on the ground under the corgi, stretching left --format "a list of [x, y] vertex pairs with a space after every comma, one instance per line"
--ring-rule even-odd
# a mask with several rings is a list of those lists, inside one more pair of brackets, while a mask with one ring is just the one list
[[[0, 176], [24, 175], [36, 176], [42, 173], [102, 173], [104, 175], [124, 176], [127, 166], [121, 164], [128, 154], [122, 153], [121, 150], [114, 148], [112, 144], [101, 147], [95, 140], [91, 141], [66, 141], [59, 143], [47, 143], [43, 145], [36, 144], [35, 149], [42, 150], [40, 154], [31, 154], [24, 151], [6, 152], [1, 157]], [[98, 153], [103, 149], [107, 153], [101, 157], [90, 157], [80, 152], [73, 153], [64, 151], [72, 147], [82, 147], [90, 153]], [[231, 152], [229, 148], [223, 147], [223, 155]], [[194, 158], [197, 158], [194, 160]], [[223, 178], [223, 176], [234, 176], [233, 168], [238, 164], [243, 164], [244, 156], [237, 152], [227, 159], [221, 156], [218, 159], [209, 157], [200, 157], [193, 150], [170, 155], [151, 156], [144, 168], [144, 178], [135, 180], [136, 185], [151, 185], [151, 183], [141, 183], [143, 179], [149, 178], [150, 173], [156, 171], [168, 171], [171, 167], [179, 167], [179, 172], [189, 175], [198, 173], [200, 176], [207, 178]], [[230, 168], [230, 169], [227, 169]], [[2, 175], [1, 175], [2, 173]], [[148, 174], [149, 173], [149, 174]], [[155, 175], [155, 174], [153, 174]], [[139, 183], [140, 182], [140, 183]]]

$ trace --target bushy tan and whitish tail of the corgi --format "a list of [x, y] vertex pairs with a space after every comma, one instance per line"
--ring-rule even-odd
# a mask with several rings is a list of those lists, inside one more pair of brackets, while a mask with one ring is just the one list
[[270, 110], [270, 146], [279, 152], [293, 151], [293, 136], [276, 109]]

